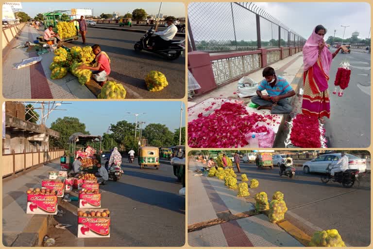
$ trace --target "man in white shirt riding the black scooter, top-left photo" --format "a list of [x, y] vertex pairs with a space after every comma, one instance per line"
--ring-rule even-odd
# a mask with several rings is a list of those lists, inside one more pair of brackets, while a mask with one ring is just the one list
[[160, 50], [167, 47], [167, 43], [176, 35], [177, 27], [173, 24], [173, 19], [168, 19], [166, 22], [167, 29], [153, 34], [154, 36], [149, 40], [151, 46], [148, 46], [148, 49]]

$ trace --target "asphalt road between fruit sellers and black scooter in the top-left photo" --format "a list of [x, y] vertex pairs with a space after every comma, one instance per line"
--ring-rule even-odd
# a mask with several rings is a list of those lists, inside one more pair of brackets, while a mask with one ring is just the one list
[[[136, 52], [134, 44], [143, 36], [142, 33], [89, 28], [86, 45], [99, 44], [102, 51], [111, 59], [110, 77], [124, 83], [124, 87], [133, 91], [137, 98], [179, 99], [185, 96], [185, 55], [168, 61], [163, 57], [146, 51]], [[175, 37], [180, 39], [182, 37]], [[67, 46], [82, 46], [82, 40], [68, 43]], [[157, 92], [146, 89], [145, 76], [152, 70], [166, 75], [169, 86]]]

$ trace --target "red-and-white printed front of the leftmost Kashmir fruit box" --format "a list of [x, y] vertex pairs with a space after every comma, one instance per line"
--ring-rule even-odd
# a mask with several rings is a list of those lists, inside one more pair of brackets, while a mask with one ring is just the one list
[[57, 214], [57, 196], [27, 195], [27, 209], [29, 214]]

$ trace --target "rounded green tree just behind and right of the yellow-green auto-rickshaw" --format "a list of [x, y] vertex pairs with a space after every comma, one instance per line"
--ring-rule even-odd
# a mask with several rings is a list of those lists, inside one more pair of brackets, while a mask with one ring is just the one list
[[149, 124], [143, 129], [142, 134], [151, 146], [162, 147], [173, 144], [173, 133], [166, 125]]

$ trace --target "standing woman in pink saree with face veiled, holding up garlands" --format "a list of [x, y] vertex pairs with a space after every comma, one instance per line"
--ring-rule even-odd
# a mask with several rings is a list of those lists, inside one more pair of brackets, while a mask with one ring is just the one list
[[316, 26], [303, 47], [303, 103], [302, 112], [319, 119], [330, 118], [330, 99], [328, 93], [329, 72], [332, 59], [345, 46], [339, 47], [331, 53], [325, 45], [326, 29], [322, 25]]

